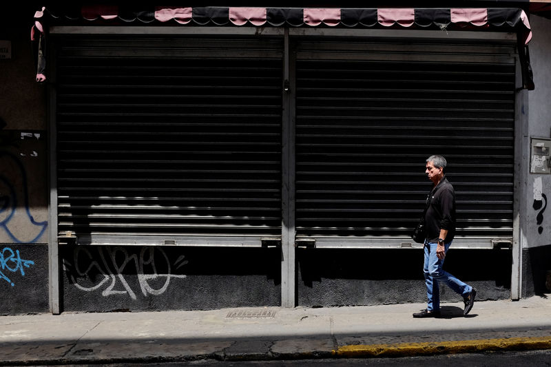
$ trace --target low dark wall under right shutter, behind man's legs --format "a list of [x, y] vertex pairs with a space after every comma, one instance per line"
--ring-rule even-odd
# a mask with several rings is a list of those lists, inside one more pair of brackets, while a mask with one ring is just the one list
[[[299, 249], [298, 305], [426, 302], [422, 249]], [[479, 300], [510, 298], [510, 250], [450, 249], [445, 269], [479, 289]], [[442, 302], [461, 297], [441, 286]]]

